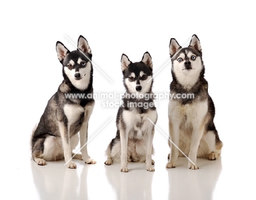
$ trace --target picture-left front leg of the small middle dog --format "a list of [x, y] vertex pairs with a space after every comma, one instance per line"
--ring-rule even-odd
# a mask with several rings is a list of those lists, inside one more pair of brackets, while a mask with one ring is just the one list
[[129, 131], [125, 131], [120, 127], [120, 143], [121, 143], [121, 172], [128, 172], [127, 147], [128, 147]]

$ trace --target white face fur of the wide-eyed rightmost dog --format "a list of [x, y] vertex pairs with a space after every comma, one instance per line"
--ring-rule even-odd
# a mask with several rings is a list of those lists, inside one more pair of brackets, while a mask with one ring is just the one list
[[179, 62], [178, 59], [173, 60], [173, 71], [176, 75], [178, 82], [182, 84], [185, 89], [190, 89], [194, 86], [196, 81], [199, 78], [200, 71], [202, 70], [202, 62], [200, 57], [196, 57], [195, 60], [192, 60], [191, 57], [195, 56], [192, 52], [187, 53], [187, 57], [191, 62], [190, 70], [185, 69], [185, 54], [181, 53], [179, 58], [182, 58], [182, 61]]

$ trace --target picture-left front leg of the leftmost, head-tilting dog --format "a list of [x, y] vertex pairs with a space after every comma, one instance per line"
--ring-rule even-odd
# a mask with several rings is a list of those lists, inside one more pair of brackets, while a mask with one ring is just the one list
[[64, 158], [68, 168], [77, 168], [77, 165], [72, 160], [72, 150], [69, 138], [69, 126], [64, 122], [59, 122], [59, 129], [62, 139], [62, 146], [64, 150]]

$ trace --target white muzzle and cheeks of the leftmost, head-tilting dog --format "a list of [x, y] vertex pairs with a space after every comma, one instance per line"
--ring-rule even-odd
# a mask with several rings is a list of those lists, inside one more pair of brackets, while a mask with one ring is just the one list
[[74, 87], [80, 90], [85, 90], [88, 88], [88, 84], [90, 82], [90, 74], [91, 74], [91, 62], [88, 62], [85, 68], [80, 68], [79, 73], [81, 75], [80, 80], [75, 80], [75, 74], [77, 74], [77, 71], [75, 69], [69, 70], [66, 66], [64, 68], [65, 74], [71, 81]]

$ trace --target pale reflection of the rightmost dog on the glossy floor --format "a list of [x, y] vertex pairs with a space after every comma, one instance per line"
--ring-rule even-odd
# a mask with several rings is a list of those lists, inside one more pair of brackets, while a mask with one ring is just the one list
[[216, 161], [198, 159], [200, 169], [197, 170], [187, 168], [185, 157], [179, 159], [182, 166], [166, 169], [170, 185], [168, 199], [212, 199], [222, 172], [221, 157]]

